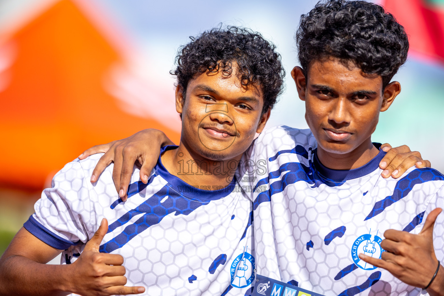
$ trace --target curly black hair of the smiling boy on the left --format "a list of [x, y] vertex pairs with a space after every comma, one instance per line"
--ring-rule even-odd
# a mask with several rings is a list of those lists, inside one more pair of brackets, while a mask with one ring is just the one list
[[170, 73], [177, 77], [184, 98], [190, 79], [206, 71], [222, 70], [231, 75], [233, 62], [238, 65], [238, 78], [244, 86], [250, 83], [262, 87], [264, 106], [262, 114], [272, 109], [283, 91], [285, 70], [281, 55], [273, 43], [248, 28], [228, 26], [213, 28], [198, 36], [190, 36], [190, 43], [179, 48], [177, 68]]

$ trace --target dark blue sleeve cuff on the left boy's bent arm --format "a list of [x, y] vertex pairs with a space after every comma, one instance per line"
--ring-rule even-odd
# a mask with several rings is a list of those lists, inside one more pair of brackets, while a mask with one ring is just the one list
[[32, 233], [35, 237], [43, 241], [45, 244], [52, 246], [59, 250], [66, 250], [73, 245], [77, 245], [77, 242], [72, 242], [59, 237], [58, 235], [49, 231], [45, 226], [41, 225], [34, 217], [29, 217], [23, 227]]

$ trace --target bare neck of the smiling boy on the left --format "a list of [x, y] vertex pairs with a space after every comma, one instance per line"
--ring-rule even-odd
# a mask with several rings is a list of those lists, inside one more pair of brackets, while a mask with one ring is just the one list
[[[214, 161], [202, 157], [180, 142], [177, 149], [166, 150], [162, 164], [168, 172], [192, 186], [226, 187], [230, 185], [237, 170], [240, 154], [236, 158]], [[210, 186], [210, 187], [208, 187]]]

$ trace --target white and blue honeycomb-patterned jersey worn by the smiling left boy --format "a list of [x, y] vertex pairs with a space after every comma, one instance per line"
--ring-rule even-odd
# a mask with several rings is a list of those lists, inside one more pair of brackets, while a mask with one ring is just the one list
[[[167, 146], [174, 149], [177, 146]], [[103, 154], [68, 163], [24, 224], [46, 244], [64, 249], [61, 263], [81, 256], [103, 218], [100, 252], [124, 258], [128, 286], [142, 295], [250, 295], [254, 285], [252, 203], [235, 180], [202, 190], [170, 174], [159, 158], [148, 184], [134, 168], [128, 199], [116, 193], [111, 164], [91, 184]]]

